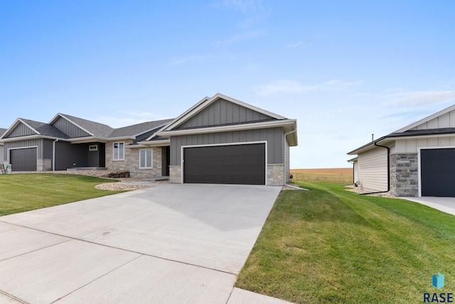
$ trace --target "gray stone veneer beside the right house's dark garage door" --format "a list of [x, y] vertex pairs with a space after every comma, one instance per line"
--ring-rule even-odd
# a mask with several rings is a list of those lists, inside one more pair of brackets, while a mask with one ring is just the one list
[[390, 193], [395, 196], [419, 196], [417, 153], [390, 156]]

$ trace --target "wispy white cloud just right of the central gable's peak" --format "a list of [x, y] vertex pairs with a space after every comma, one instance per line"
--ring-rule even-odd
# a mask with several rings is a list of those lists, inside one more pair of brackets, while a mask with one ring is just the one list
[[295, 80], [276, 80], [266, 85], [258, 85], [253, 89], [260, 96], [269, 96], [278, 93], [298, 93], [298, 92], [309, 92], [309, 91], [332, 91], [346, 89], [353, 85], [359, 85], [361, 82], [345, 82], [342, 80], [329, 80], [322, 82], [318, 85], [301, 85]]

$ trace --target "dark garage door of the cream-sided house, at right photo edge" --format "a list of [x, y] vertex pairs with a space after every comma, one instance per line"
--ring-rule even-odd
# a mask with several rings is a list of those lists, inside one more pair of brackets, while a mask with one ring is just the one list
[[455, 149], [420, 151], [422, 196], [455, 197]]

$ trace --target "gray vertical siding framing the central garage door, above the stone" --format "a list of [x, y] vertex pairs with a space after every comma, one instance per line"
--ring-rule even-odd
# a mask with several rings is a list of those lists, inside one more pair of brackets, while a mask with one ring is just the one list
[[267, 141], [267, 163], [284, 163], [283, 129], [269, 128], [208, 134], [171, 136], [171, 165], [181, 165], [181, 146]]

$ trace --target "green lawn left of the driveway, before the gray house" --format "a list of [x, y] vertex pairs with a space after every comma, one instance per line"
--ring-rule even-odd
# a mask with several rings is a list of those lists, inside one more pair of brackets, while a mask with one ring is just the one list
[[0, 175], [0, 216], [124, 192], [96, 189], [101, 183], [112, 180], [69, 174]]

